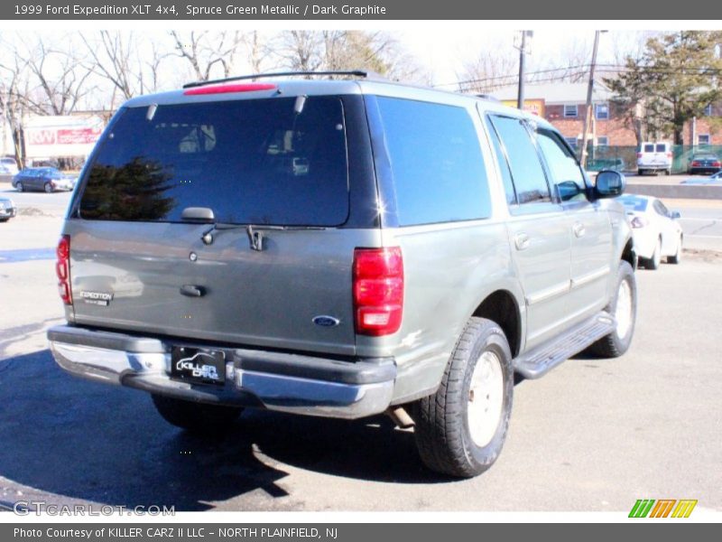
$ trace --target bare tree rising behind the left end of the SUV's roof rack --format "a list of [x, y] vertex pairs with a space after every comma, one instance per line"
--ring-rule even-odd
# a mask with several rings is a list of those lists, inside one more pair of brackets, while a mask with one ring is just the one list
[[[236, 56], [245, 44], [245, 36], [238, 31], [202, 31], [178, 33], [171, 31], [175, 54], [190, 63], [194, 77], [199, 81], [211, 78], [216, 66], [221, 77], [229, 77], [236, 65]], [[260, 45], [255, 37], [256, 55], [260, 56]], [[260, 62], [260, 61], [259, 61]]]

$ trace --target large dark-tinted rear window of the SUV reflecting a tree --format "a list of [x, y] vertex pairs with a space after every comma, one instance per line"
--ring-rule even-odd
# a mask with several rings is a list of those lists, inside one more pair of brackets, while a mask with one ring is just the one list
[[[339, 226], [348, 216], [340, 98], [127, 108], [106, 134], [80, 201], [90, 220], [180, 221], [208, 207], [236, 224]], [[150, 118], [149, 118], [150, 117]]]

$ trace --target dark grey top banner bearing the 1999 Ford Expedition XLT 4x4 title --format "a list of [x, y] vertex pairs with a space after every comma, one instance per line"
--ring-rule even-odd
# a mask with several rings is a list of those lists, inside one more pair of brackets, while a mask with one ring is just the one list
[[[717, 13], [715, 13], [717, 12]], [[535, 3], [469, 0], [10, 0], [0, 5], [6, 20], [676, 20], [718, 19], [708, 0], [663, 4], [646, 0], [604, 3], [547, 0]], [[691, 19], [690, 19], [691, 20]]]

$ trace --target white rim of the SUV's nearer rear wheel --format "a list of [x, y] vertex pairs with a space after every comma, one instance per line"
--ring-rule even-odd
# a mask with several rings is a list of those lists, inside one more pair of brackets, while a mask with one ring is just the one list
[[499, 426], [503, 406], [502, 364], [494, 352], [486, 351], [477, 360], [468, 390], [468, 431], [474, 444], [486, 446], [491, 442]]

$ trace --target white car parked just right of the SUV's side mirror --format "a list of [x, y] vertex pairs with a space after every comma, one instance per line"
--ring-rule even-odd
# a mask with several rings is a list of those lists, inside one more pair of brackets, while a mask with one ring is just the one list
[[640, 263], [656, 269], [667, 258], [668, 264], [679, 264], [684, 234], [680, 213], [668, 210], [664, 203], [652, 196], [625, 194], [618, 198], [625, 206], [634, 236], [634, 248]]

